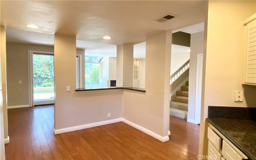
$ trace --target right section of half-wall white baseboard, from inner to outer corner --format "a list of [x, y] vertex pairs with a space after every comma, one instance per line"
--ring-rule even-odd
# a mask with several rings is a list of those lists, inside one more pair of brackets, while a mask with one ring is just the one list
[[144, 128], [144, 127], [141, 127], [141, 126], [138, 125], [138, 124], [132, 123], [131, 121], [128, 121], [128, 120], [126, 120], [126, 119], [124, 119], [124, 118], [122, 118], [122, 119], [123, 119], [123, 122], [124, 122], [124, 123], [129, 124], [129, 125], [131, 125], [132, 127], [137, 128], [138, 130], [147, 133], [148, 135], [150, 135], [150, 136], [156, 138], [157, 140], [161, 140], [162, 142], [165, 142], [165, 141], [169, 140], [169, 136], [164, 136], [164, 137], [163, 137], [163, 136], [160, 136], [159, 134], [156, 134], [155, 132], [152, 132], [152, 131], [150, 131], [150, 130]]

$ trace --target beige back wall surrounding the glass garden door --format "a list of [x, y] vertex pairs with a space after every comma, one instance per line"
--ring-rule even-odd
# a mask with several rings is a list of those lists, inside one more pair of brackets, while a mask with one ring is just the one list
[[[54, 52], [53, 46], [6, 43], [6, 66], [7, 66], [7, 97], [8, 106], [28, 105], [28, 50]], [[82, 69], [84, 68], [84, 50], [78, 50], [82, 55]], [[84, 77], [84, 71], [82, 71]], [[19, 84], [22, 81], [22, 84]], [[84, 78], [83, 78], [84, 84]]]

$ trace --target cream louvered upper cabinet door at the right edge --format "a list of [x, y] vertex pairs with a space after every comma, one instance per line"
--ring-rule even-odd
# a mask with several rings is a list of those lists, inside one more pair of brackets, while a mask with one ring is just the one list
[[244, 84], [256, 85], [256, 20], [245, 26]]

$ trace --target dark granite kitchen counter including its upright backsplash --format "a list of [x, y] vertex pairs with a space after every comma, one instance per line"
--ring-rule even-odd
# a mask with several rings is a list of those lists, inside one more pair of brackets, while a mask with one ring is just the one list
[[251, 160], [256, 160], [256, 108], [209, 106], [208, 118], [223, 136]]

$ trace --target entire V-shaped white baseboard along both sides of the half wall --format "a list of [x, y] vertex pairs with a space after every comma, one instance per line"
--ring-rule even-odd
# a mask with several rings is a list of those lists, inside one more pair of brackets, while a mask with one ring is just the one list
[[[54, 129], [54, 134], [59, 134], [59, 133], [65, 133], [65, 132], [71, 132], [71, 131], [76, 131], [76, 130], [81, 130], [81, 129], [85, 129], [85, 128], [90, 128], [90, 127], [96, 127], [96, 126], [100, 126], [100, 125], [105, 125], [105, 124], [111, 124], [111, 123], [116, 123], [116, 122], [121, 122], [123, 121], [126, 124], [131, 125], [134, 128], [137, 128], [138, 130], [147, 133], [148, 135], [161, 140], [162, 142], [165, 142], [167, 140], [169, 140], [169, 136], [160, 136], [159, 134], [156, 134], [155, 132], [152, 132], [144, 127], [141, 127], [138, 124], [132, 123], [131, 121], [128, 121], [124, 118], [117, 118], [117, 119], [111, 119], [108, 121], [102, 121], [102, 122], [96, 122], [96, 123], [91, 123], [91, 124], [84, 124], [84, 125], [79, 125], [79, 126], [74, 126], [74, 127], [68, 127], [68, 128], [62, 128], [62, 129]], [[168, 135], [170, 135], [171, 132], [168, 131]]]

